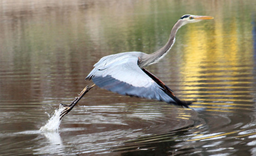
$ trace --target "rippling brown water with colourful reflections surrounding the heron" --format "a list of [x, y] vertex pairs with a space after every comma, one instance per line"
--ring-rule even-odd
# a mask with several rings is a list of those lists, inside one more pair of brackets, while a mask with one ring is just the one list
[[[256, 155], [255, 1], [0, 1], [0, 155]], [[61, 121], [101, 57], [152, 53], [147, 70], [194, 109], [94, 87]]]

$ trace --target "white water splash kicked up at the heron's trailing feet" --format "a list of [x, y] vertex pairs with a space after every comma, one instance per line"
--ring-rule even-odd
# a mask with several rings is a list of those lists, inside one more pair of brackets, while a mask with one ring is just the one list
[[65, 109], [63, 106], [59, 106], [59, 109], [55, 110], [54, 115], [48, 120], [45, 126], [40, 128], [40, 131], [58, 131], [60, 125], [60, 114]]

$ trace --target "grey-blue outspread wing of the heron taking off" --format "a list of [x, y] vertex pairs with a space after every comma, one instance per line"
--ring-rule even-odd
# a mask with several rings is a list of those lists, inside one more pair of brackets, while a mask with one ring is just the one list
[[105, 90], [121, 95], [156, 99], [176, 104], [164, 89], [138, 66], [138, 56], [110, 55], [103, 57], [86, 77]]

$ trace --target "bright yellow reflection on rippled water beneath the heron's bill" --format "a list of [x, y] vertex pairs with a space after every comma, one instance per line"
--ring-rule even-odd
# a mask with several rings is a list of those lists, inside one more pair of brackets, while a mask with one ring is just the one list
[[[189, 30], [184, 33], [186, 41], [183, 42], [186, 42], [187, 46], [184, 46], [185, 63], [181, 68], [183, 74], [181, 82], [184, 82], [182, 90], [187, 94], [187, 98], [199, 97], [197, 100], [234, 102], [212, 103], [220, 106], [206, 106], [207, 111], [233, 112], [213, 110], [223, 108], [250, 110], [242, 106], [250, 106], [251, 104], [244, 104], [244, 102], [253, 102], [252, 98], [238, 99], [242, 96], [250, 96], [250, 90], [254, 87], [252, 83], [254, 78], [251, 76], [253, 75], [251, 65], [253, 64], [253, 45], [252, 42], [244, 41], [245, 38], [253, 40], [252, 35], [247, 34], [253, 29], [250, 20], [236, 16], [225, 17], [220, 13], [213, 22], [207, 22], [213, 26], [209, 27], [207, 23], [202, 23], [201, 26], [189, 25], [186, 28]], [[208, 27], [209, 29], [206, 29]], [[223, 91], [229, 94], [221, 94]], [[244, 94], [241, 96], [236, 93]], [[243, 102], [243, 104], [236, 104], [236, 102]]]

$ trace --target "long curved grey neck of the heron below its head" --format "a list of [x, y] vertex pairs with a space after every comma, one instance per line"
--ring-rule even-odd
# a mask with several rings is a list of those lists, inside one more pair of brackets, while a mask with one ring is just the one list
[[178, 20], [177, 23], [174, 25], [172, 31], [170, 32], [169, 39], [167, 43], [158, 51], [147, 55], [142, 61], [141, 61], [141, 67], [151, 65], [154, 63], [157, 63], [160, 59], [162, 59], [169, 50], [173, 47], [173, 44], [175, 43], [175, 35], [180, 27], [182, 27], [184, 24], [182, 20]]

